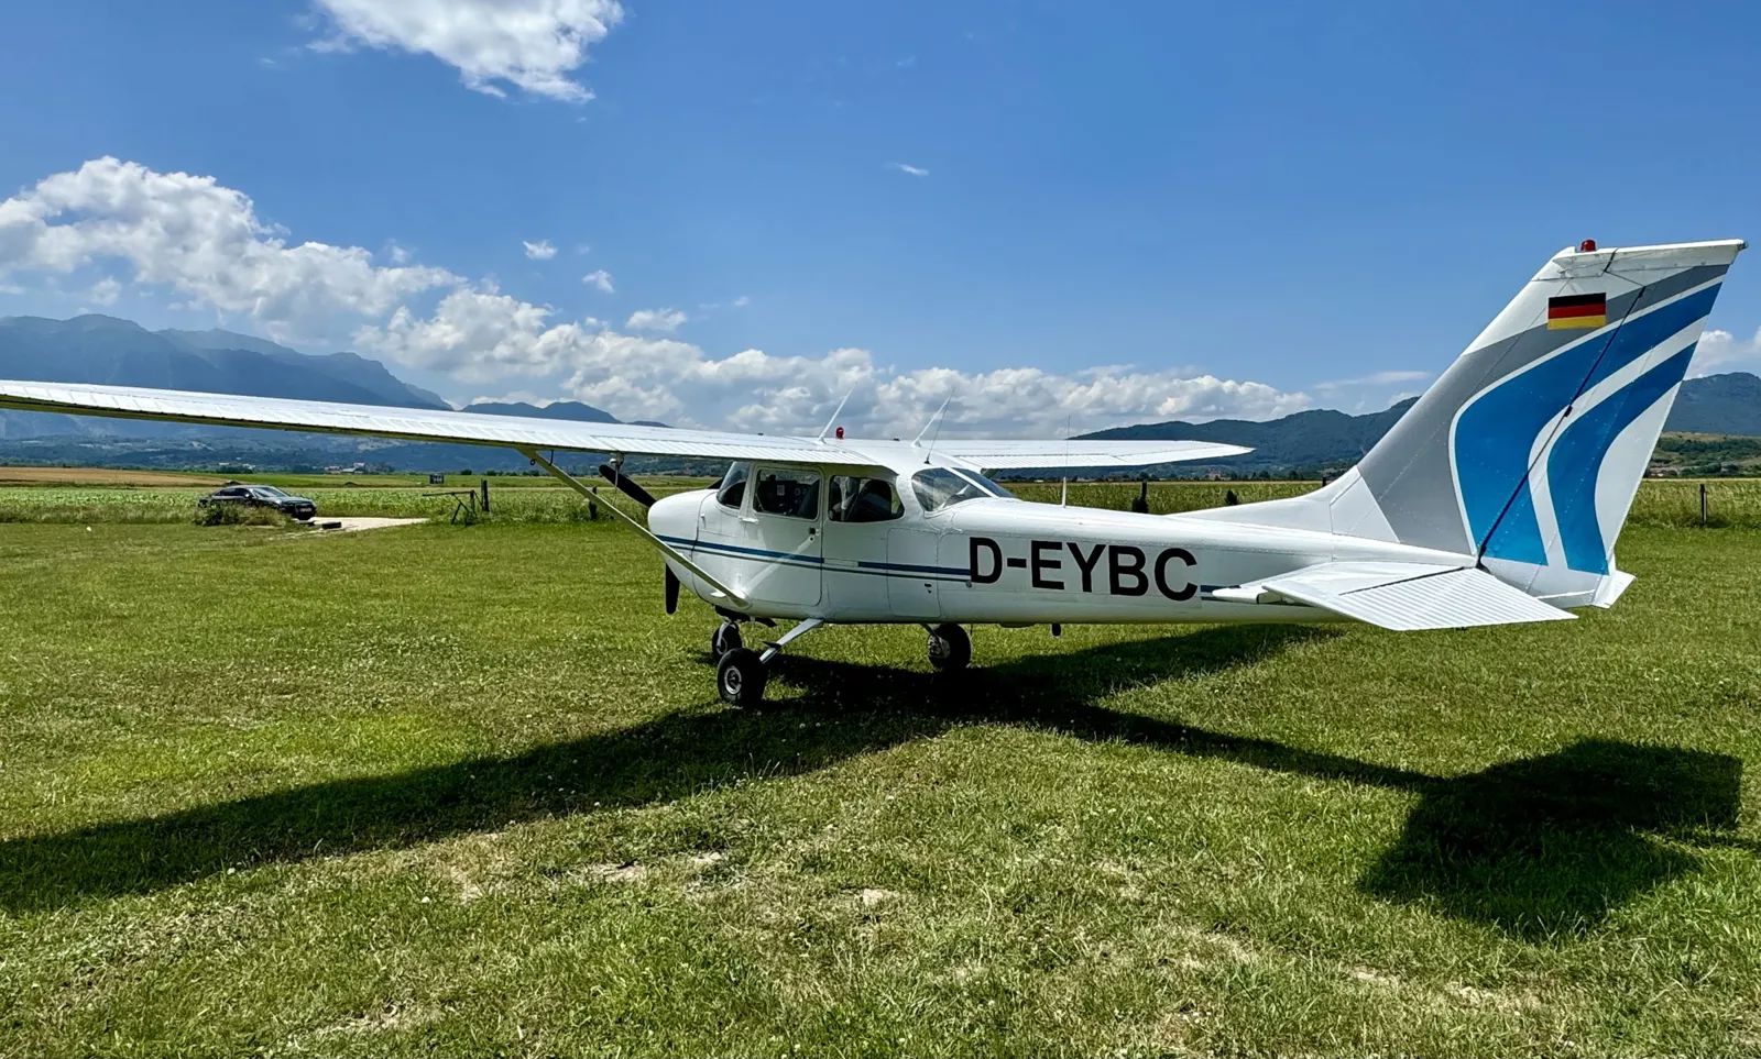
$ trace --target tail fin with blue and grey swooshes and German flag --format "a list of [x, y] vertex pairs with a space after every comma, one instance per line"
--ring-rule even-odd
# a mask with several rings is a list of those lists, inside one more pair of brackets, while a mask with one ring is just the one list
[[1324, 503], [1335, 533], [1469, 554], [1562, 605], [1611, 603], [1629, 581], [1615, 538], [1740, 250], [1560, 252], [1300, 521]]

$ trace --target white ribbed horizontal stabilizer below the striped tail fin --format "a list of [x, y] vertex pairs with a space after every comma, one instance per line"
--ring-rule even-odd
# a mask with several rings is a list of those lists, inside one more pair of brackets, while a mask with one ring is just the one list
[[1321, 563], [1243, 588], [1398, 632], [1576, 617], [1476, 566]]

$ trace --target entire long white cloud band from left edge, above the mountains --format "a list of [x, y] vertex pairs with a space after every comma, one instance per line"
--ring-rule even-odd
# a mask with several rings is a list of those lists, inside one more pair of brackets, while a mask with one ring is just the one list
[[[953, 398], [946, 436], [1060, 436], [1164, 419], [1263, 419], [1308, 405], [1301, 392], [1185, 369], [902, 369], [863, 348], [711, 354], [671, 334], [678, 310], [645, 310], [615, 329], [505, 294], [490, 281], [410, 264], [400, 243], [296, 241], [210, 176], [99, 158], [0, 201], [0, 288], [46, 276], [167, 306], [248, 318], [284, 341], [356, 348], [435, 371], [472, 392], [569, 396], [622, 419], [817, 431], [842, 417], [866, 436], [910, 436]], [[74, 276], [77, 273], [77, 276]], [[585, 276], [611, 292], [611, 274]], [[643, 331], [646, 329], [646, 331]]]

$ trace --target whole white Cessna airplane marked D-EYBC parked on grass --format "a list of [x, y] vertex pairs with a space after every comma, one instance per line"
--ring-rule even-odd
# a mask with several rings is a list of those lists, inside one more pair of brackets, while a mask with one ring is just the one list
[[[1199, 442], [768, 436], [137, 387], [0, 382], [0, 408], [511, 447], [581, 493], [556, 450], [648, 508], [630, 522], [720, 616], [717, 690], [761, 700], [826, 623], [914, 623], [939, 670], [967, 624], [1351, 619], [1437, 630], [1573, 617], [1632, 582], [1615, 540], [1738, 239], [1548, 260], [1363, 461], [1307, 496], [1182, 515], [1027, 503], [1004, 468], [1124, 470], [1247, 452]], [[833, 417], [836, 419], [836, 417]], [[629, 454], [727, 459], [653, 500]], [[609, 507], [609, 505], [608, 505]], [[745, 623], [796, 624], [763, 649]]]

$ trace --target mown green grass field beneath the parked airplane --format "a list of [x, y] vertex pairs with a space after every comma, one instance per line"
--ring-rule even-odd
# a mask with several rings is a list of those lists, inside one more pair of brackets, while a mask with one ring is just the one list
[[1756, 1054], [1761, 533], [1622, 565], [734, 712], [608, 521], [0, 526], [0, 1055]]

